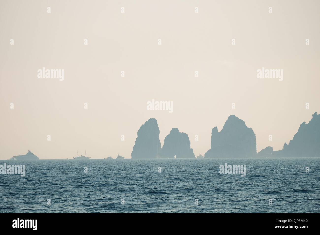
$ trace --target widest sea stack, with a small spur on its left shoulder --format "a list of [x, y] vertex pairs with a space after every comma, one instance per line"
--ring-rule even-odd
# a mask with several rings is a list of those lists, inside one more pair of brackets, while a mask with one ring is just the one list
[[211, 132], [211, 149], [204, 158], [256, 157], [256, 135], [244, 121], [230, 115], [222, 130], [214, 127]]

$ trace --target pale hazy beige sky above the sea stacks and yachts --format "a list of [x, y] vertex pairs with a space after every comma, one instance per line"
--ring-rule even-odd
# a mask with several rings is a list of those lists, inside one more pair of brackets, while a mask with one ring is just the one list
[[[138, 129], [151, 117], [162, 145], [178, 128], [197, 156], [210, 149], [211, 129], [220, 131], [231, 114], [253, 129], [257, 151], [282, 149], [320, 112], [319, 7], [1, 0], [0, 159], [28, 149], [40, 159], [72, 158], [77, 150], [130, 158]], [[38, 78], [43, 67], [64, 69], [64, 80]], [[262, 67], [283, 69], [283, 81], [257, 78]], [[173, 112], [147, 110], [152, 99], [172, 101]]]

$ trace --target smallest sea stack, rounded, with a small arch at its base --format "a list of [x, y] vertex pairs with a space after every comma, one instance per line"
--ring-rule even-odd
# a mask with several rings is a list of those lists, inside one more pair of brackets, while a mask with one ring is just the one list
[[178, 128], [172, 128], [169, 135], [164, 138], [161, 151], [162, 158], [195, 158], [193, 149], [190, 148], [190, 140], [186, 133], [179, 132]]

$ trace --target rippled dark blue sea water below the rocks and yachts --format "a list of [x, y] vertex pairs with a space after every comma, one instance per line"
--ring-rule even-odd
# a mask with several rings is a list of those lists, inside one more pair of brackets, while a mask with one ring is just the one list
[[[314, 213], [320, 209], [320, 158], [0, 160], [0, 165], [4, 163], [26, 165], [26, 176], [0, 175], [2, 213]], [[246, 176], [220, 174], [219, 166], [225, 163], [246, 165]]]

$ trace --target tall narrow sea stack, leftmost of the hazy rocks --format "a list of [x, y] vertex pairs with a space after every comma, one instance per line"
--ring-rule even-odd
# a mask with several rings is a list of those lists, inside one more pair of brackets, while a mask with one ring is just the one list
[[131, 158], [159, 158], [161, 153], [159, 134], [157, 120], [150, 118], [138, 130]]

